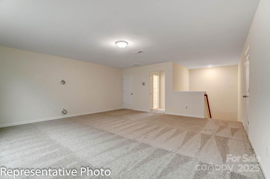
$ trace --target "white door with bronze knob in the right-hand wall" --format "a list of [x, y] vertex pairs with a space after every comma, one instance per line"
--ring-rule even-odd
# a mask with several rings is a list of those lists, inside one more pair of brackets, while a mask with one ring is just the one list
[[245, 124], [244, 128], [248, 134], [248, 126], [249, 126], [249, 53], [248, 50], [245, 54], [246, 60], [245, 60], [245, 95], [243, 95], [243, 98], [245, 98]]

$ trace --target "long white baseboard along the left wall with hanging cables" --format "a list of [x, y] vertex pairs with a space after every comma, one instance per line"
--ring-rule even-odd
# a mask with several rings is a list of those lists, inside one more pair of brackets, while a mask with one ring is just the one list
[[2, 125], [0, 125], [0, 128], [1, 127], [16, 126], [16, 125], [21, 125], [21, 124], [29, 124], [29, 123], [41, 122], [41, 121], [50, 121], [50, 120], [54, 120], [54, 119], [68, 118], [68, 117], [73, 117], [73, 116], [94, 114], [94, 113], [99, 113], [99, 112], [114, 111], [114, 110], [118, 110], [118, 109], [123, 109], [123, 108], [121, 107], [121, 108], [116, 108], [116, 109], [107, 109], [107, 110], [102, 110], [102, 111], [85, 112], [85, 113], [81, 113], [81, 114], [63, 115], [63, 116], [58, 116], [58, 117], [53, 117], [53, 118], [45, 118], [45, 119], [37, 119], [37, 120], [32, 120], [32, 121], [24, 121], [24, 122], [10, 123], [10, 124], [2, 124]]

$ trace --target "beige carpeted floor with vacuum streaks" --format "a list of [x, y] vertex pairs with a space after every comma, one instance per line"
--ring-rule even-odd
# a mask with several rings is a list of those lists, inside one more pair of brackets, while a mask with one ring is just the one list
[[[103, 167], [111, 170], [104, 178], [264, 178], [261, 170], [252, 171], [257, 161], [227, 162], [227, 155], [253, 156], [250, 148], [240, 122], [165, 115], [163, 110], [120, 109], [0, 128], [2, 167]], [[241, 165], [251, 166], [250, 172], [242, 172]]]

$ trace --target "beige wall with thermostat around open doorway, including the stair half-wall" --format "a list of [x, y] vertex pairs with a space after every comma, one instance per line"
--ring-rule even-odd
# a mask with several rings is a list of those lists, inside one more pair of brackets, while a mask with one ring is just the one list
[[[172, 69], [173, 62], [123, 69], [123, 75], [133, 74], [134, 110], [150, 111], [150, 72], [165, 70], [165, 113], [204, 118], [204, 95], [172, 92]], [[142, 86], [143, 81], [146, 81], [145, 86]]]

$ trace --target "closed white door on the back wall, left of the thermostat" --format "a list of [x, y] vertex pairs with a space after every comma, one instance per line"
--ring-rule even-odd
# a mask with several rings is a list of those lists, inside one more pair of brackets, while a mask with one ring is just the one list
[[124, 75], [123, 94], [123, 108], [133, 109], [133, 75]]

